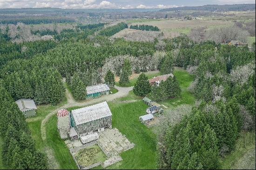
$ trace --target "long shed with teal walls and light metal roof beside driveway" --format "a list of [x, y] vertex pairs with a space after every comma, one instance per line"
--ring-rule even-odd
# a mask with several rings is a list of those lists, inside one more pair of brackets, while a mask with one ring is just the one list
[[101, 97], [102, 95], [109, 94], [109, 87], [106, 84], [91, 85], [86, 87], [88, 99]]

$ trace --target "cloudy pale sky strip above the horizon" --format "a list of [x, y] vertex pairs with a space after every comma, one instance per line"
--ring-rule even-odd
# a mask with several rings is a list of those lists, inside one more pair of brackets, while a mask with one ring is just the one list
[[243, 4], [255, 0], [0, 0], [0, 8], [170, 8], [208, 4]]

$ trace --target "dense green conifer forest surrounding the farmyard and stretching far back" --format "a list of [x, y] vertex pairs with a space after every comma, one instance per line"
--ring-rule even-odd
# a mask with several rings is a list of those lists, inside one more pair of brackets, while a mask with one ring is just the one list
[[[219, 169], [220, 157], [234, 150], [239, 133], [255, 131], [255, 43], [249, 48], [213, 40], [197, 42], [184, 34], [161, 42], [109, 39], [125, 28], [128, 25], [123, 22], [108, 27], [78, 24], [76, 29], [59, 33], [34, 31], [54, 39], [22, 43], [13, 43], [8, 29], [1, 30], [0, 137], [7, 167], [47, 169], [47, 157], [35, 149], [25, 117], [14, 101], [32, 98], [37, 105], [58, 105], [65, 98], [63, 78], [80, 100], [85, 99], [88, 85], [104, 80], [115, 85], [113, 74], [120, 76], [120, 85], [126, 85], [133, 72], [168, 74], [182, 67], [192, 74], [189, 91], [198, 104], [179, 123], [166, 119], [160, 124], [158, 169]], [[175, 77], [151, 88], [141, 74], [134, 93], [160, 101], [179, 96], [181, 89]]]

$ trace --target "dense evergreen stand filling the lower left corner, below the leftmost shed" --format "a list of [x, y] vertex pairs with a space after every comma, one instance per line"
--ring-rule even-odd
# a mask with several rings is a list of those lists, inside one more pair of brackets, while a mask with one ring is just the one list
[[24, 114], [0, 84], [2, 159], [8, 169], [47, 169], [47, 157], [36, 150]]

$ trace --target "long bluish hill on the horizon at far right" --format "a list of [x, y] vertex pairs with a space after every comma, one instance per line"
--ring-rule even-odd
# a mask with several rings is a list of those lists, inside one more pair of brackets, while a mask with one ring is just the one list
[[197, 7], [173, 7], [166, 8], [160, 11], [182, 11], [182, 10], [196, 10], [196, 11], [254, 11], [255, 4], [234, 4], [234, 5], [204, 5]]

